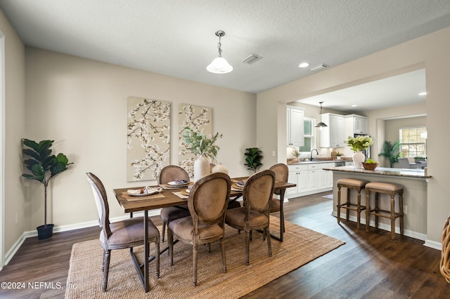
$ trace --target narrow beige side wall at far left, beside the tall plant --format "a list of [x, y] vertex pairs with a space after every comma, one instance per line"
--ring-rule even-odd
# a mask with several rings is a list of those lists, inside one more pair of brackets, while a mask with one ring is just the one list
[[[4, 253], [15, 244], [25, 230], [25, 196], [20, 184], [22, 174], [21, 140], [25, 135], [25, 46], [0, 11], [0, 31], [4, 34]], [[1, 88], [1, 87], [0, 87]], [[3, 92], [3, 91], [2, 91]], [[1, 150], [0, 150], [1, 151]], [[3, 177], [3, 175], [0, 175]], [[15, 214], [18, 223], [15, 224]], [[3, 258], [3, 255], [1, 256]], [[1, 267], [1, 265], [0, 265]]]

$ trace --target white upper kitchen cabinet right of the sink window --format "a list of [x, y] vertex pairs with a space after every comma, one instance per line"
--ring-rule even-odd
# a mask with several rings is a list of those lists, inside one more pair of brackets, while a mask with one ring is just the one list
[[343, 115], [321, 114], [322, 122], [327, 126], [321, 128], [321, 147], [345, 147], [345, 119]]

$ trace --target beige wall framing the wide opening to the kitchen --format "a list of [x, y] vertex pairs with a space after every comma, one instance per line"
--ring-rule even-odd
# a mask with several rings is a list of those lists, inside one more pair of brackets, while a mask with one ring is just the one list
[[[439, 154], [442, 155], [442, 149], [450, 147], [448, 138], [437, 137], [442, 135], [444, 129], [450, 126], [448, 112], [446, 109], [442, 109], [444, 103], [449, 100], [449, 53], [450, 28], [446, 28], [259, 93], [257, 95], [257, 146], [278, 149], [278, 152], [281, 153], [278, 154], [278, 161], [285, 161], [285, 156], [283, 157], [285, 136], [267, 136], [266, 134], [267, 130], [274, 132], [276, 127], [285, 127], [285, 117], [277, 118], [278, 115], [285, 115], [278, 111], [278, 109], [284, 109], [284, 107], [275, 103], [292, 102], [311, 95], [335, 91], [425, 67], [428, 91], [425, 105], [428, 129], [427, 149], [430, 157], [439, 157]], [[277, 110], [275, 111], [275, 109]], [[377, 122], [381, 117], [375, 115], [378, 113], [368, 115], [369, 132], [380, 133]], [[422, 110], [421, 113], [424, 113], [424, 111]], [[262, 121], [262, 119], [265, 121]], [[378, 144], [376, 146], [378, 147]], [[450, 201], [445, 198], [449, 173], [446, 168], [439, 167], [437, 159], [429, 161], [428, 173], [433, 176], [428, 184], [428, 242], [439, 244], [442, 227], [450, 213]]]

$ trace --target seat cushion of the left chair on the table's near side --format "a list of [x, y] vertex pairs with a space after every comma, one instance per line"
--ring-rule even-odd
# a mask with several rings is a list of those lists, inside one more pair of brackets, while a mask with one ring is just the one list
[[[176, 236], [182, 239], [191, 240], [193, 237], [193, 220], [192, 217], [180, 218], [169, 222], [169, 230], [172, 230]], [[200, 239], [210, 239], [212, 237], [218, 237], [223, 233], [220, 225], [204, 225], [202, 223], [198, 224], [198, 237]]]

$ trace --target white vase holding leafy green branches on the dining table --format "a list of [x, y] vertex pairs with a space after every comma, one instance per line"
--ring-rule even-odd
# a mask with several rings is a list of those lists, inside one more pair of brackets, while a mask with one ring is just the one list
[[208, 137], [203, 130], [197, 132], [189, 127], [184, 128], [183, 139], [186, 148], [197, 157], [194, 161], [194, 182], [210, 173], [210, 159], [216, 159], [217, 152], [220, 150], [214, 142], [221, 137], [219, 133]]

